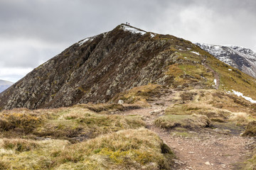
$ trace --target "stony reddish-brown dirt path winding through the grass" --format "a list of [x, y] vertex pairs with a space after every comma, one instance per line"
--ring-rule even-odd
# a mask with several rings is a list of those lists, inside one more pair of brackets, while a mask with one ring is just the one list
[[[154, 125], [154, 120], [164, 115], [173, 94], [166, 94], [151, 101], [150, 108], [126, 111], [124, 115], [142, 115], [147, 128], [156, 132], [169, 147], [174, 150], [178, 159], [176, 169], [236, 169], [236, 163], [242, 162], [253, 140], [240, 137], [238, 134], [227, 134], [225, 129], [204, 128], [188, 131], [180, 135], [176, 131], [167, 131]], [[223, 127], [222, 127], [223, 128]]]

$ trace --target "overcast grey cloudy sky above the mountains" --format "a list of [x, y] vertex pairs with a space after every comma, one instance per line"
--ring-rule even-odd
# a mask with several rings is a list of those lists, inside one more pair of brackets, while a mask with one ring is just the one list
[[256, 51], [255, 0], [0, 0], [0, 79], [18, 81], [75, 42], [120, 23]]

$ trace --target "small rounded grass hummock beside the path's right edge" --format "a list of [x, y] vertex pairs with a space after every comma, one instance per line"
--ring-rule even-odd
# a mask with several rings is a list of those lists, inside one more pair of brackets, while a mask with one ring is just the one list
[[210, 120], [206, 115], [163, 115], [155, 120], [155, 125], [166, 129], [206, 128], [210, 126]]

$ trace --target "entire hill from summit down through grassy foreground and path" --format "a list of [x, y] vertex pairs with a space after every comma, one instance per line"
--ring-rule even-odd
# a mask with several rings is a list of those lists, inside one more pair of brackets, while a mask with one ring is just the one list
[[121, 24], [0, 94], [0, 169], [255, 169], [256, 80]]

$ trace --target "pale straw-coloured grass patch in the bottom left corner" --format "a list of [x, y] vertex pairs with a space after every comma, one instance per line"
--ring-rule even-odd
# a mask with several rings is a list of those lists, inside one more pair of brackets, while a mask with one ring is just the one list
[[[15, 147], [9, 147], [9, 145]], [[18, 147], [16, 144], [21, 144]], [[70, 145], [66, 140], [0, 140], [0, 167], [2, 169], [51, 169], [54, 166], [53, 151]], [[23, 148], [22, 150], [17, 150]], [[0, 169], [1, 169], [0, 168]]]

